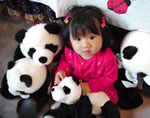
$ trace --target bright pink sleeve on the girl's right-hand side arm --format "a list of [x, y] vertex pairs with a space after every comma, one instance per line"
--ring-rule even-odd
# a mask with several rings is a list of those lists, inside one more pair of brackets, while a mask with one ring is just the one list
[[105, 62], [103, 75], [96, 76], [96, 78], [93, 79], [89, 78], [88, 83], [93, 92], [98, 90], [109, 90], [117, 78], [118, 64], [116, 58], [113, 56]]

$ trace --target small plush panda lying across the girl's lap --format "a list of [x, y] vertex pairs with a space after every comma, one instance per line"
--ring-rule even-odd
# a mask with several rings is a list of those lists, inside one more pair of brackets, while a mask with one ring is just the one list
[[[82, 95], [80, 82], [75, 77], [65, 77], [51, 89], [54, 103], [43, 118], [120, 118], [116, 106], [104, 92]], [[101, 97], [100, 97], [101, 96]], [[102, 104], [105, 100], [105, 104]]]

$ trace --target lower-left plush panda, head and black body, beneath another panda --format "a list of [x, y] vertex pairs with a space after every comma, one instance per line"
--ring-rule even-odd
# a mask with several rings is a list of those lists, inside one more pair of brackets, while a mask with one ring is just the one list
[[20, 98], [17, 106], [19, 118], [30, 118], [48, 102], [49, 84], [50, 74], [46, 66], [37, 64], [31, 58], [22, 58], [8, 63], [1, 94], [7, 99]]

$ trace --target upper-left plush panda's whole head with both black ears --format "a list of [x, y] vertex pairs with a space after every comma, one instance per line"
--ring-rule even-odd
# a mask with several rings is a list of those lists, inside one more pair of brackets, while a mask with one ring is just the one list
[[48, 65], [62, 48], [61, 27], [57, 23], [40, 23], [27, 31], [20, 30], [15, 39], [25, 57], [32, 58], [40, 65]]

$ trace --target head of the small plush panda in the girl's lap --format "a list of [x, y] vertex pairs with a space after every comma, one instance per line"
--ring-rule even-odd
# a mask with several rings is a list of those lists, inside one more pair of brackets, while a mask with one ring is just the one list
[[58, 86], [51, 88], [52, 98], [61, 103], [74, 104], [82, 94], [82, 89], [78, 79], [74, 77], [65, 77]]

